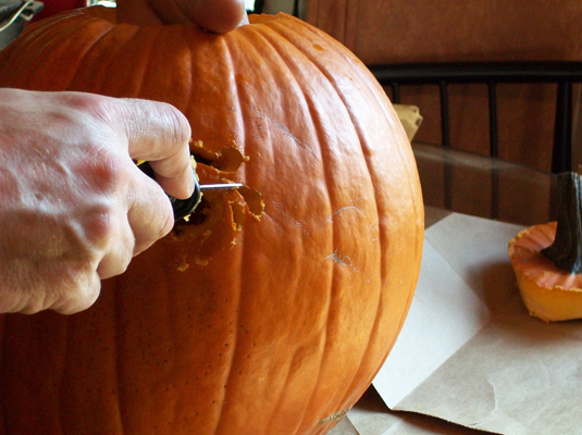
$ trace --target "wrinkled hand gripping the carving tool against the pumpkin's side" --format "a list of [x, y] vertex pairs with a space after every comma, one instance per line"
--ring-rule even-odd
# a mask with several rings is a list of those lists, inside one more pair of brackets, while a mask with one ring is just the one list
[[100, 279], [172, 229], [160, 185], [191, 195], [189, 137], [169, 104], [0, 89], [0, 312], [91, 306]]

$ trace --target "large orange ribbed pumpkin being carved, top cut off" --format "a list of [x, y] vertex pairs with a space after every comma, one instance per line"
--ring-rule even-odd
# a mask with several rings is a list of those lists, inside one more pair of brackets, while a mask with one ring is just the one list
[[423, 207], [406, 134], [363, 64], [280, 14], [227, 35], [32, 26], [0, 86], [166, 101], [205, 194], [103, 282], [94, 307], [2, 316], [2, 434], [324, 434], [363, 394], [410, 306]]

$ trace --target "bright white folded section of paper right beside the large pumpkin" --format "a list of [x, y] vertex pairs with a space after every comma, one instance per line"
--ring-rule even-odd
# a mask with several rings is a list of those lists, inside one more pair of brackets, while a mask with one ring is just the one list
[[455, 355], [490, 318], [485, 303], [428, 240], [421, 271], [400, 336], [373, 383], [389, 408]]

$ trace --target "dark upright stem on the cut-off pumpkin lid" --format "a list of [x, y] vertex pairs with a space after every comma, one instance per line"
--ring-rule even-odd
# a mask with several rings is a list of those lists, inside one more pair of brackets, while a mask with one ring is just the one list
[[542, 250], [557, 268], [582, 272], [582, 177], [575, 172], [558, 174], [558, 227], [552, 246]]

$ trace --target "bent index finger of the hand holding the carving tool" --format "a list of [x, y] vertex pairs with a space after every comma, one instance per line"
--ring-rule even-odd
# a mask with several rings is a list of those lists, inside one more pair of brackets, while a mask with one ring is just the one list
[[121, 101], [117, 120], [127, 136], [132, 159], [147, 160], [166, 194], [189, 198], [195, 182], [188, 146], [191, 129], [186, 116], [163, 102]]

